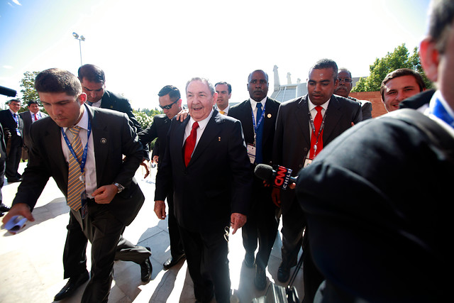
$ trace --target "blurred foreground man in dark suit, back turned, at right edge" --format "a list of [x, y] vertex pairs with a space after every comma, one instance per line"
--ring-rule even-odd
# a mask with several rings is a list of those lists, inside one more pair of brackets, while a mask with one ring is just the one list
[[[398, 109], [360, 123], [299, 175], [311, 253], [326, 280], [316, 302], [450, 300], [454, 2], [429, 7], [419, 55], [438, 89], [405, 101], [428, 104], [424, 114]], [[395, 119], [404, 113], [413, 123]]]

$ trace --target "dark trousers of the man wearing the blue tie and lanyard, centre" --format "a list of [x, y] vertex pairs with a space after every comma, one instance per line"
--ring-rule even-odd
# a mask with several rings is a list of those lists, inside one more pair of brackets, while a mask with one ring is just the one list
[[272, 202], [271, 191], [272, 187], [264, 187], [262, 180], [254, 178], [252, 206], [248, 221], [241, 231], [247, 253], [254, 253], [258, 244], [255, 263], [261, 268], [267, 267], [279, 226], [277, 207]]

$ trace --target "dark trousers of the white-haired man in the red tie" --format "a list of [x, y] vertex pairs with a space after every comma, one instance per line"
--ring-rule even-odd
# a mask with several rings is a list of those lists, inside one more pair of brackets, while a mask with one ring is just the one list
[[[226, 222], [228, 226], [228, 222]], [[200, 302], [230, 302], [231, 281], [228, 271], [228, 236], [223, 228], [206, 228], [203, 233], [179, 225], [187, 268], [194, 282], [194, 295]]]

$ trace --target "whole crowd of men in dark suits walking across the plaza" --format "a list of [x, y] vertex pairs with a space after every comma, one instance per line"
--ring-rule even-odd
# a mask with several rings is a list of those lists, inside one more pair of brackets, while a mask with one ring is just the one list
[[[453, 4], [443, 0], [434, 3], [435, 17], [432, 18], [444, 16], [441, 26], [452, 28]], [[440, 11], [448, 11], [448, 18]], [[419, 94], [404, 106], [418, 107], [421, 111], [427, 109], [441, 122], [432, 119], [448, 128], [452, 135], [454, 99], [449, 70], [454, 64], [454, 35], [452, 31], [445, 31], [443, 37], [436, 36], [441, 32], [439, 27], [432, 25], [433, 31], [421, 43], [421, 61], [426, 75], [440, 85], [440, 90]], [[438, 43], [439, 40], [443, 43]], [[377, 298], [377, 302], [407, 302], [409, 298], [411, 302], [424, 302], [431, 298], [443, 299], [444, 292], [431, 296], [437, 285], [444, 285], [443, 280], [428, 283], [420, 281], [423, 280], [421, 275], [411, 277], [412, 263], [405, 263], [406, 256], [394, 249], [382, 250], [384, 262], [394, 255], [399, 265], [397, 262], [389, 263], [405, 274], [391, 279], [392, 286], [384, 282], [392, 274], [392, 269], [387, 265], [377, 267], [370, 260], [365, 265], [379, 272], [383, 280], [373, 278], [374, 272], [365, 275], [351, 262], [349, 268], [357, 270], [353, 270], [356, 276], [345, 274], [348, 268], [339, 266], [342, 260], [336, 259], [336, 243], [343, 239], [355, 246], [361, 237], [355, 232], [362, 232], [362, 228], [367, 228], [387, 244], [404, 246], [411, 242], [413, 250], [405, 251], [409, 254], [416, 251], [421, 258], [427, 258], [429, 265], [424, 265], [423, 269], [436, 275], [436, 269], [430, 265], [443, 264], [441, 259], [445, 258], [445, 252], [440, 250], [438, 243], [433, 243], [435, 236], [431, 238], [418, 228], [423, 217], [428, 216], [424, 214], [424, 207], [416, 205], [416, 210], [410, 209], [406, 214], [406, 206], [398, 203], [404, 200], [402, 191], [389, 189], [395, 184], [387, 183], [383, 173], [375, 172], [392, 170], [392, 165], [382, 163], [382, 158], [377, 156], [386, 154], [383, 148], [386, 142], [393, 142], [397, 148], [384, 160], [402, 166], [402, 171], [411, 170], [417, 157], [410, 157], [406, 150], [414, 145], [414, 150], [423, 157], [421, 161], [428, 160], [428, 165], [423, 165], [424, 172], [443, 176], [440, 182], [427, 183], [428, 187], [436, 188], [439, 195], [448, 186], [447, 182], [453, 180], [452, 170], [446, 168], [452, 167], [449, 154], [443, 157], [444, 151], [436, 150], [438, 145], [430, 150], [419, 150], [421, 145], [431, 146], [432, 142], [416, 136], [407, 126], [394, 122], [388, 124], [384, 122], [386, 119], [362, 122], [372, 118], [371, 104], [348, 96], [352, 89], [351, 73], [347, 69], [338, 70], [333, 60], [319, 60], [310, 68], [308, 94], [304, 97], [279, 103], [267, 97], [268, 86], [267, 73], [254, 70], [248, 75], [250, 98], [229, 106], [230, 84], [218, 82], [213, 85], [205, 78], [195, 77], [185, 87], [187, 109], [184, 109], [179, 89], [167, 85], [158, 93], [164, 114], [155, 116], [153, 124], [143, 130], [133, 116], [129, 101], [106, 91], [104, 72], [95, 65], [83, 65], [78, 77], [58, 69], [45, 70], [36, 77], [35, 88], [50, 118], [43, 119], [45, 115], [33, 102], [28, 104], [30, 111], [18, 115], [21, 104], [16, 99], [9, 102], [9, 109], [0, 111], [1, 126], [9, 130], [5, 132], [8, 143], [4, 144], [4, 138], [1, 138], [0, 163], [4, 162], [7, 151], [7, 181], [21, 181], [11, 209], [5, 210], [9, 210], [9, 214], [4, 222], [14, 215], [33, 221], [31, 212], [49, 177], [54, 177], [71, 209], [63, 255], [64, 277], [69, 279], [55, 296], [56, 301], [69, 297], [89, 280], [82, 302], [107, 302], [114, 260], [138, 263], [142, 280], [150, 279], [153, 270], [150, 248], [136, 246], [122, 236], [144, 201], [133, 177], [143, 160], [157, 162], [155, 214], [159, 219], [169, 216], [171, 257], [163, 267], [167, 270], [185, 258], [198, 302], [210, 302], [214, 297], [216, 302], [230, 302], [227, 255], [231, 228], [232, 233], [242, 228], [244, 264], [255, 270], [255, 287], [265, 290], [265, 271], [280, 219], [282, 263], [277, 280], [289, 280], [290, 270], [297, 265], [302, 248], [304, 302], [374, 301]], [[383, 80], [382, 101], [387, 111], [395, 111], [404, 99], [423, 90], [425, 86], [419, 74], [400, 69], [389, 73]], [[421, 105], [424, 106], [422, 109]], [[179, 116], [182, 112], [187, 115]], [[367, 134], [373, 133], [372, 128], [382, 129], [389, 138], [384, 135], [371, 138]], [[408, 135], [398, 140], [392, 136], [396, 129]], [[1, 134], [4, 135], [4, 130]], [[148, 143], [155, 138], [155, 148], [149, 158]], [[23, 175], [18, 175], [17, 159], [20, 160], [24, 145], [29, 162]], [[369, 149], [364, 150], [366, 148]], [[408, 159], [396, 161], [402, 155]], [[272, 187], [269, 182], [255, 177], [254, 169], [259, 164], [281, 165], [291, 170], [292, 177], [299, 175], [297, 191]], [[422, 175], [416, 170], [411, 171], [413, 175], [409, 180], [414, 181]], [[375, 218], [375, 214], [365, 216], [367, 208], [361, 214], [355, 211], [355, 207], [363, 206], [355, 204], [360, 200], [353, 190], [348, 190], [350, 186], [369, 193], [372, 202], [380, 202], [377, 204], [380, 207], [372, 205], [372, 208], [377, 207], [380, 214], [394, 220], [395, 226], [377, 225], [380, 233], [389, 231], [388, 236], [380, 236], [375, 230], [378, 227], [370, 224], [370, 221], [383, 222], [386, 219], [378, 214], [379, 218]], [[418, 199], [418, 194], [427, 199], [433, 195], [423, 188], [416, 192], [411, 199]], [[341, 197], [341, 203], [333, 203], [337, 197]], [[353, 205], [343, 209], [347, 201], [352, 201]], [[394, 208], [381, 207], [388, 204], [393, 204]], [[394, 216], [403, 216], [404, 220], [401, 222]], [[429, 216], [433, 224], [429, 232], [439, 231], [437, 218], [438, 214]], [[358, 224], [363, 220], [368, 221]], [[415, 227], [409, 226], [409, 221], [411, 224], [415, 221]], [[351, 226], [356, 226], [353, 233]], [[403, 237], [401, 231], [406, 231], [409, 236]], [[92, 243], [90, 275], [86, 265], [88, 241]], [[357, 253], [366, 250], [380, 258], [372, 252], [376, 247], [373, 243], [360, 243], [365, 243], [365, 246], [358, 248]], [[355, 259], [350, 255], [349, 246], [343, 248], [345, 251], [341, 250], [339, 255], [345, 260]], [[367, 259], [353, 255], [358, 258], [355, 260]], [[333, 260], [338, 260], [338, 263]], [[358, 281], [362, 275], [379, 285], [380, 294], [367, 287], [367, 281]], [[402, 283], [404, 287], [397, 292], [399, 297], [393, 297], [388, 288], [393, 289], [403, 278], [411, 283]], [[411, 294], [418, 289], [414, 285], [428, 286], [428, 290], [421, 294], [422, 299]]]

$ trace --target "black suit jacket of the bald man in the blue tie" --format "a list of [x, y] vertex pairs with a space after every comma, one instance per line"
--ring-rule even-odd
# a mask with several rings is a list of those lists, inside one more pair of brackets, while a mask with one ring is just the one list
[[[254, 126], [252, 108], [250, 99], [232, 106], [228, 111], [228, 116], [241, 121], [246, 144], [254, 143]], [[254, 101], [255, 102], [255, 101]], [[263, 162], [270, 164], [272, 162], [272, 146], [275, 138], [275, 125], [279, 102], [267, 97], [265, 103], [265, 124], [263, 124], [263, 143], [262, 155]]]

